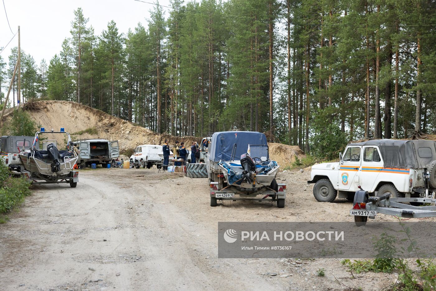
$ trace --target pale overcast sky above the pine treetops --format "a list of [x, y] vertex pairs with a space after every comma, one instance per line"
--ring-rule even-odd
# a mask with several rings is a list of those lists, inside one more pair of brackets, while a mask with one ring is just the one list
[[[138, 22], [147, 27], [146, 19], [150, 17], [152, 4], [134, 0], [3, 0], [12, 31], [17, 31], [20, 25], [21, 49], [31, 54], [37, 65], [45, 58], [47, 64], [54, 54], [61, 50], [65, 37], [70, 37], [73, 10], [82, 7], [83, 14], [89, 18], [88, 26], [92, 25], [95, 34], [106, 29], [112, 19], [116, 22], [119, 32], [127, 33]], [[146, 0], [154, 2], [154, 0]], [[169, 0], [160, 0], [159, 4], [170, 6]], [[14, 34], [7, 24], [3, 3], [0, 3], [0, 48], [6, 46]], [[168, 9], [164, 8], [165, 18]], [[1, 53], [7, 61], [10, 49], [18, 45], [15, 37]]]

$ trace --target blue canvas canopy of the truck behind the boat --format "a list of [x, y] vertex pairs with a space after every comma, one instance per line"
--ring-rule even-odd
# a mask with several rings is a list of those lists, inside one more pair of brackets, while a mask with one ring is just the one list
[[265, 134], [257, 131], [222, 131], [212, 135], [208, 158], [211, 161], [230, 161], [233, 145], [236, 144], [234, 159], [239, 161], [248, 150], [249, 144], [267, 144]]

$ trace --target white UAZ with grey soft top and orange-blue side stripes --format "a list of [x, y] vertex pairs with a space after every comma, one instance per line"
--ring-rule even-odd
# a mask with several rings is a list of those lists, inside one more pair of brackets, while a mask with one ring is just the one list
[[370, 195], [428, 197], [436, 191], [436, 142], [368, 140], [348, 144], [340, 161], [312, 166], [313, 195], [320, 202], [354, 199], [358, 186]]

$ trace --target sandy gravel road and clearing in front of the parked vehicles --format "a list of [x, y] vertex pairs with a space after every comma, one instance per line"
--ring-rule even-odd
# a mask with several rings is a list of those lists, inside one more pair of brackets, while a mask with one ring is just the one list
[[33, 186], [0, 225], [0, 290], [381, 290], [398, 276], [353, 277], [340, 259], [218, 259], [218, 221], [353, 221], [350, 202], [313, 198], [308, 171], [279, 174], [288, 185], [284, 209], [244, 201], [210, 207], [207, 179], [156, 169], [79, 177], [74, 189]]

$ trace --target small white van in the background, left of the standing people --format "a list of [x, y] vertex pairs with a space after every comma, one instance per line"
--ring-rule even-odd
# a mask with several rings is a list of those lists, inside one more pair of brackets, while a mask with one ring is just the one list
[[[174, 159], [173, 152], [170, 151], [170, 160]], [[137, 146], [135, 153], [130, 156], [130, 163], [135, 168], [139, 167], [150, 169], [153, 164], [160, 168], [164, 164], [164, 150], [161, 145], [143, 144]]]

